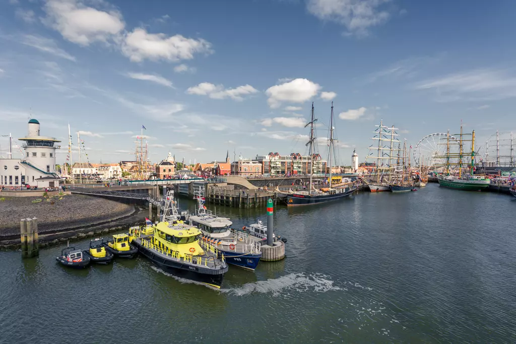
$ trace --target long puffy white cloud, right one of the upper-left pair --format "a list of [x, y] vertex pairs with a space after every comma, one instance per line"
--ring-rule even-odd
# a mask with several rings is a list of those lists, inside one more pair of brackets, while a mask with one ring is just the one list
[[185, 38], [181, 35], [149, 34], [144, 28], [127, 32], [122, 43], [122, 53], [133, 62], [191, 60], [194, 54], [212, 53], [211, 44], [203, 39]]

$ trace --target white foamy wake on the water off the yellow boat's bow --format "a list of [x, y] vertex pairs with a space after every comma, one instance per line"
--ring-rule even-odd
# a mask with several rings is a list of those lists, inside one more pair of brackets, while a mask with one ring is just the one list
[[241, 287], [221, 289], [220, 291], [236, 296], [251, 293], [272, 293], [272, 296], [278, 296], [282, 291], [292, 290], [326, 292], [342, 289], [333, 285], [333, 281], [329, 280], [329, 277], [324, 274], [291, 273], [277, 279], [246, 283]]

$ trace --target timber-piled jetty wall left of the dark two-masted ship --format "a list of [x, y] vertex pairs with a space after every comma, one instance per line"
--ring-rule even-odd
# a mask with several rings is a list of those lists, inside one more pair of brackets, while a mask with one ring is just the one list
[[244, 190], [228, 190], [209, 187], [206, 201], [235, 208], [258, 208], [265, 207], [269, 198], [271, 198], [274, 204], [276, 204], [279, 197], [280, 195], [277, 193], [259, 194], [257, 192], [253, 192], [253, 194], [249, 194], [248, 191]]

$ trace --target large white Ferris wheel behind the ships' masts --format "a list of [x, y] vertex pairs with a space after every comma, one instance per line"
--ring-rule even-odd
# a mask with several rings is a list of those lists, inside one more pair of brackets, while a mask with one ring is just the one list
[[[425, 136], [414, 147], [414, 162], [417, 167], [422, 162], [427, 166], [444, 166], [446, 158], [446, 133], [434, 133]], [[457, 140], [453, 135], [449, 136], [450, 140]], [[420, 161], [420, 159], [422, 161]]]

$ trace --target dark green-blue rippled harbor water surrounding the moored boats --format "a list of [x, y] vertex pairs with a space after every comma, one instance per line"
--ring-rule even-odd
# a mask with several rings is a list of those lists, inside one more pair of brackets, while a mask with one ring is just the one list
[[[235, 227], [266, 220], [208, 208]], [[0, 343], [514, 343], [515, 213], [508, 195], [436, 184], [279, 206], [287, 257], [231, 266], [220, 290], [143, 257], [69, 270], [60, 247], [0, 252]]]

